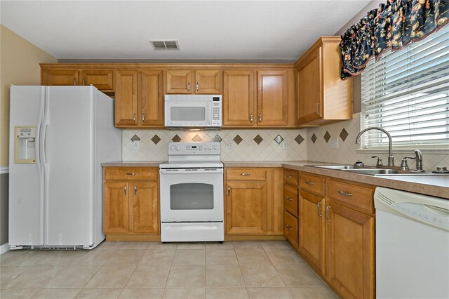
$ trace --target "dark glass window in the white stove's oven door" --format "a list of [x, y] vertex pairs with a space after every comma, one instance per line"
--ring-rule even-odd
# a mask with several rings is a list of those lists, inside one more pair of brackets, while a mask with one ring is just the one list
[[171, 210], [212, 210], [213, 185], [189, 182], [170, 185]]

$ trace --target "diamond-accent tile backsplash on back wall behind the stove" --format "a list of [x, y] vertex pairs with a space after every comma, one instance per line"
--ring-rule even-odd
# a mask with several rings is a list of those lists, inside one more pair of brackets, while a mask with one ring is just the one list
[[[140, 138], [139, 149], [131, 138]], [[279, 137], [278, 137], [279, 136]], [[276, 140], [281, 142], [278, 144]], [[222, 161], [303, 161], [307, 159], [307, 130], [168, 131], [123, 130], [123, 161], [165, 161], [168, 142], [220, 141]], [[229, 148], [230, 142], [230, 148]], [[287, 142], [286, 150], [283, 150]]]

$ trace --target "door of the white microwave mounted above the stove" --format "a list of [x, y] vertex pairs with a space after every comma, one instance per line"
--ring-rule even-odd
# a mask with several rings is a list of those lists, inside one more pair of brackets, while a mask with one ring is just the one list
[[165, 126], [212, 126], [211, 102], [166, 101]]

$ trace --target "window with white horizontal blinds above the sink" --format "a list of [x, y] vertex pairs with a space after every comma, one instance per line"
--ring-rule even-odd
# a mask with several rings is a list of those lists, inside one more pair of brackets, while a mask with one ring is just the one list
[[[395, 147], [449, 147], [449, 26], [370, 60], [361, 84], [362, 129], [384, 128]], [[365, 149], [388, 145], [378, 130], [362, 137]]]

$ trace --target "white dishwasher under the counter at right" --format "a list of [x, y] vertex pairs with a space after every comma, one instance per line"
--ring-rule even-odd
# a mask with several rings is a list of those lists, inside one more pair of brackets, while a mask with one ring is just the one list
[[449, 298], [449, 199], [377, 187], [377, 298]]

